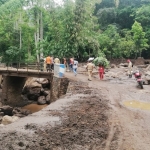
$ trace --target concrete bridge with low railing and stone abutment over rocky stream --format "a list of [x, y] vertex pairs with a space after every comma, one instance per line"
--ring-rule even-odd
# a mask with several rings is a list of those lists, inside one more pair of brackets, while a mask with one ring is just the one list
[[53, 72], [40, 71], [39, 69], [0, 67], [0, 75], [3, 77], [1, 102], [3, 105], [11, 105], [13, 107], [23, 106], [21, 93], [29, 77], [47, 78], [50, 81], [51, 102], [66, 94], [67, 87], [63, 83], [69, 83], [69, 80], [65, 77], [60, 78], [54, 76]]

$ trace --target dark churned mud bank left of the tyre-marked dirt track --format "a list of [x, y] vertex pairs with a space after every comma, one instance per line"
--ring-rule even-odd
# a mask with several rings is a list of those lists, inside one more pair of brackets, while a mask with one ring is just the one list
[[98, 90], [70, 81], [67, 95], [53, 106], [2, 127], [0, 150], [103, 149], [109, 109]]

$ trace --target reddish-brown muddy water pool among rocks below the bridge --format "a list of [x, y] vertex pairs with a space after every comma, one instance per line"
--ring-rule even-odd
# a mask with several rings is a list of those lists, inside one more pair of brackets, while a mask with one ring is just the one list
[[48, 106], [48, 105], [47, 104], [45, 104], [45, 105], [30, 104], [30, 105], [26, 105], [22, 108], [30, 110], [32, 113], [34, 113], [34, 112], [40, 111], [41, 109], [45, 108], [46, 106]]

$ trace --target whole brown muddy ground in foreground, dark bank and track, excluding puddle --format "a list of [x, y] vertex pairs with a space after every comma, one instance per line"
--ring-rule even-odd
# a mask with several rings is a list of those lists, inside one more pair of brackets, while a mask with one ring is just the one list
[[43, 110], [0, 128], [0, 150], [148, 150], [150, 112], [124, 101], [148, 102], [150, 86], [136, 87], [124, 69], [121, 78], [92, 81], [66, 73], [66, 96]]

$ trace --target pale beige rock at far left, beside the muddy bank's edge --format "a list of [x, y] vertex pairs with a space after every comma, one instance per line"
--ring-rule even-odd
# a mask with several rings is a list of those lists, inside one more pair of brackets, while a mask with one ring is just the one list
[[3, 118], [2, 118], [2, 124], [3, 125], [7, 125], [7, 124], [10, 124], [10, 123], [13, 123], [13, 122], [15, 122], [15, 121], [17, 121], [19, 119], [19, 117], [17, 117], [17, 116], [4, 116]]

